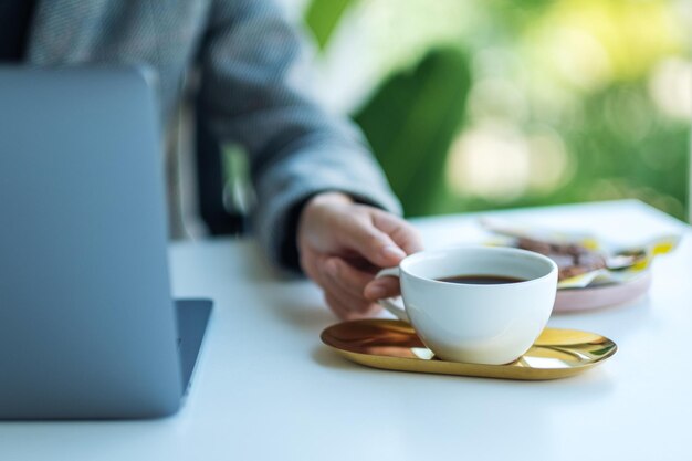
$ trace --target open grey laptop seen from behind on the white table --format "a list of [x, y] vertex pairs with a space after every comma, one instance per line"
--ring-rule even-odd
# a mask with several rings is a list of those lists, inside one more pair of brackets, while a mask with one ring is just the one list
[[175, 412], [211, 302], [174, 301], [154, 92], [0, 67], [0, 418]]

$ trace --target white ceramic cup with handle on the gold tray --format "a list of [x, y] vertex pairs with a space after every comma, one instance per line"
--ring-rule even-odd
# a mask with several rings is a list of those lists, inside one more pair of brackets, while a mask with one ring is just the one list
[[[521, 279], [503, 284], [443, 282], [458, 275]], [[557, 290], [551, 259], [512, 248], [459, 247], [421, 251], [377, 277], [397, 276], [403, 306], [379, 303], [410, 322], [422, 342], [444, 360], [501, 365], [516, 360], [545, 327]]]

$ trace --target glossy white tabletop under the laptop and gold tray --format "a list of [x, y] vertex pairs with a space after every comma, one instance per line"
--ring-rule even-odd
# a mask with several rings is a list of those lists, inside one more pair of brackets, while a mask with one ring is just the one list
[[[637, 201], [503, 216], [620, 241], [683, 232], [648, 296], [551, 326], [601, 333], [618, 353], [555, 381], [365, 368], [319, 332], [336, 322], [305, 281], [279, 277], [252, 241], [171, 248], [176, 295], [216, 308], [175, 417], [0, 422], [0, 460], [692, 460], [692, 231]], [[417, 220], [429, 248], [483, 238], [475, 217]]]

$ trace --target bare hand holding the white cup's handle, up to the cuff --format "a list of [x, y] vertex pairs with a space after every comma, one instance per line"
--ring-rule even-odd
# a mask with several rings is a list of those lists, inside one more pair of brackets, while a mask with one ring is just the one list
[[375, 301], [399, 294], [397, 279], [374, 280], [375, 274], [422, 250], [408, 222], [338, 192], [319, 193], [305, 205], [297, 245], [301, 266], [344, 319], [371, 316], [380, 310]]

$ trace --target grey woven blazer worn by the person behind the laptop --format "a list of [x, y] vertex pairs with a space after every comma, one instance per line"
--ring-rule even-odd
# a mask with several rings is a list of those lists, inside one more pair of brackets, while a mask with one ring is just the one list
[[27, 60], [38, 65], [146, 64], [165, 126], [198, 67], [198, 111], [220, 144], [250, 158], [253, 228], [270, 259], [295, 265], [297, 207], [325, 190], [399, 212], [360, 133], [306, 95], [296, 31], [270, 0], [39, 0]]

